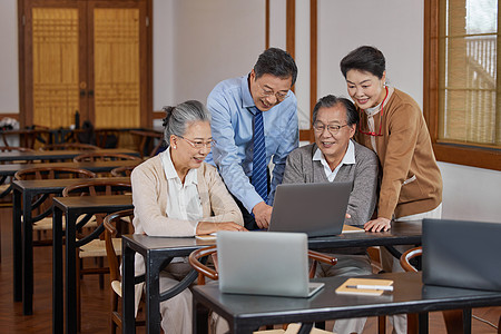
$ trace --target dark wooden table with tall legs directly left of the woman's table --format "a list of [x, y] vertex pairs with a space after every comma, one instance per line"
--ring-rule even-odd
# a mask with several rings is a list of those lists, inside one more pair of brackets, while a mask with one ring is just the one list
[[[77, 218], [84, 214], [110, 214], [132, 208], [130, 195], [84, 196], [53, 198], [53, 252], [52, 252], [52, 333], [63, 333], [63, 314], [66, 315], [66, 333], [77, 333], [77, 295], [76, 295], [76, 248], [89, 243], [92, 238], [76, 240]], [[66, 247], [62, 250], [62, 215], [66, 216]], [[104, 232], [99, 226], [98, 230]], [[62, 254], [66, 258], [65, 276], [62, 275]], [[63, 277], [65, 285], [63, 285]], [[63, 291], [66, 307], [63, 310]], [[66, 312], [65, 312], [66, 311]]]

